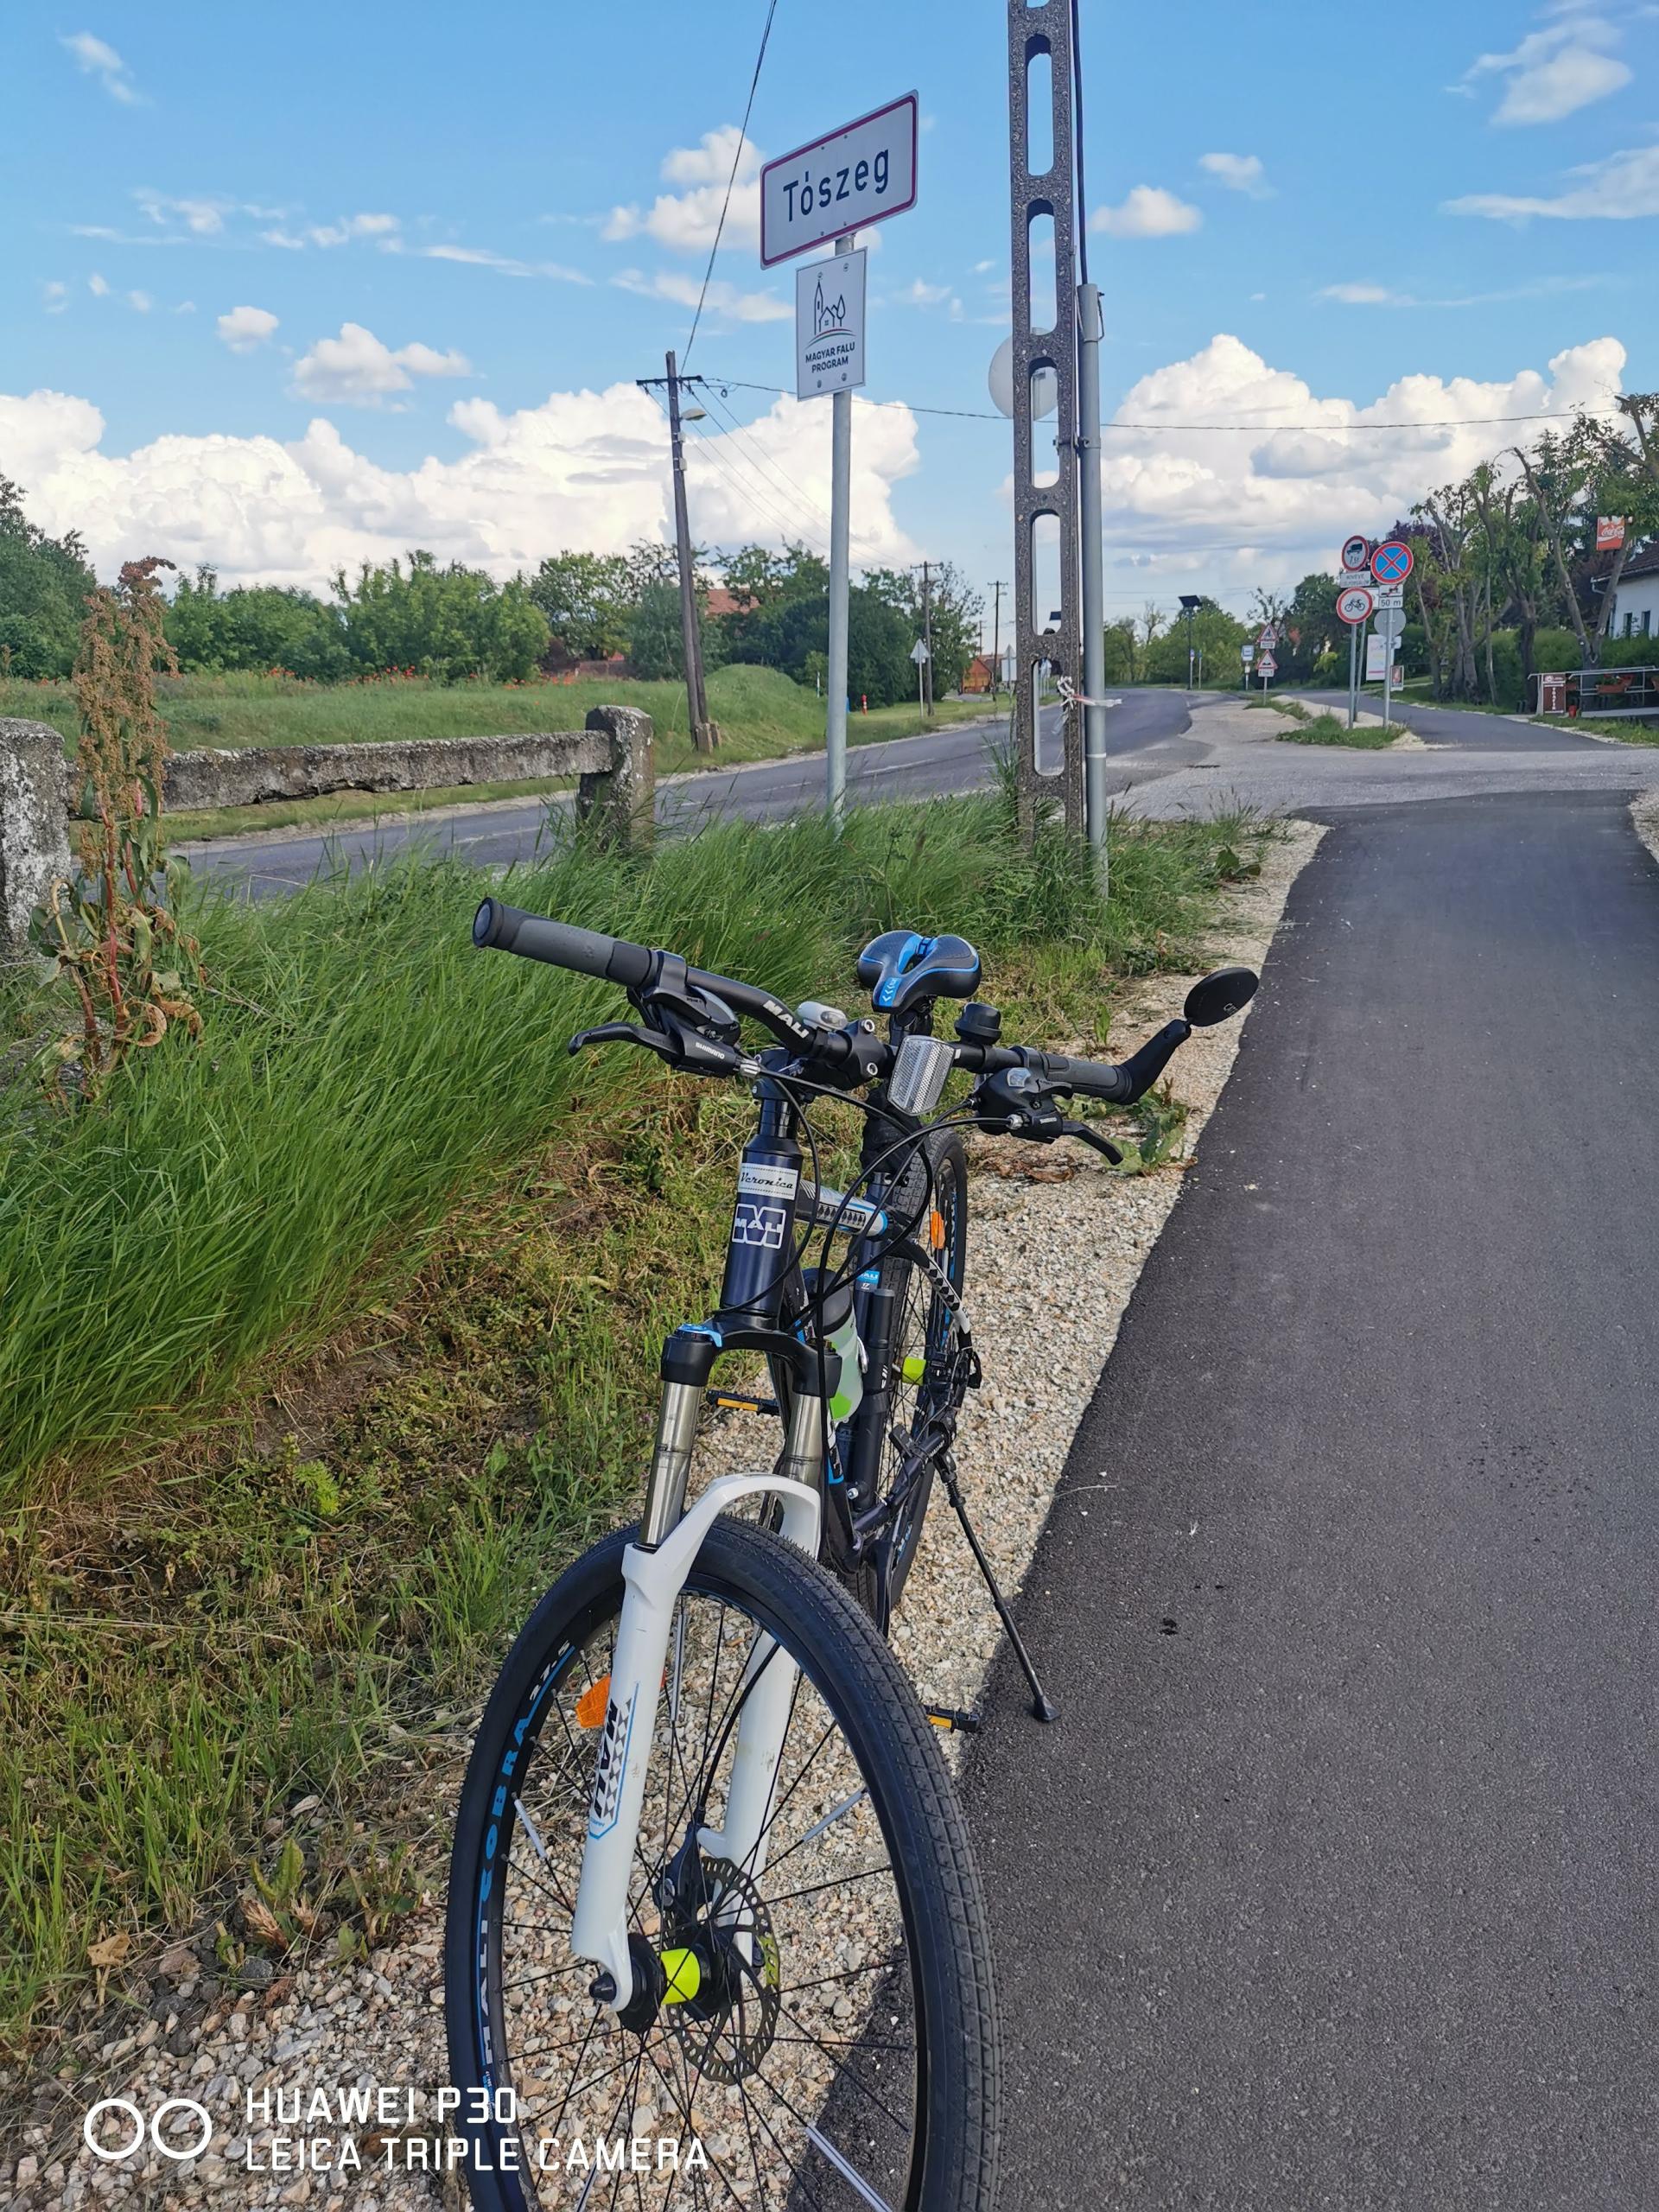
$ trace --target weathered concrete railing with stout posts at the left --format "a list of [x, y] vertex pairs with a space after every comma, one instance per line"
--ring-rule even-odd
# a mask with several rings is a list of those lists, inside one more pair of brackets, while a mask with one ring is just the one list
[[[257, 807], [332, 792], [438, 792], [476, 783], [575, 779], [575, 810], [613, 845], [639, 849], [655, 827], [650, 714], [595, 706], [584, 730], [529, 737], [425, 737], [385, 745], [248, 745], [175, 752], [166, 805]], [[44, 721], [0, 717], [0, 960], [27, 953], [29, 916], [71, 872], [69, 763]]]

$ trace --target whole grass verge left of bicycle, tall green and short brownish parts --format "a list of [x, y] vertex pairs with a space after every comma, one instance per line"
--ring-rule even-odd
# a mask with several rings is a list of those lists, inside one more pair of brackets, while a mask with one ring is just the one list
[[[1239, 821], [1115, 825], [1113, 898], [998, 794], [726, 823], [511, 896], [768, 980], [958, 927], [1029, 1037], [1106, 1037], [1188, 964]], [[531, 1593], [630, 1498], [655, 1338], [712, 1294], [745, 1099], [564, 1037], [615, 993], [480, 958], [480, 878], [204, 894], [208, 1037], [108, 1106], [0, 1091], [0, 2035], [102, 2015], [270, 1823], [343, 1942], [396, 1887], [374, 1809]], [[11, 1006], [40, 1029], [40, 1004]], [[411, 1747], [414, 1732], [414, 1747]], [[396, 1794], [396, 1790], [394, 1790]], [[369, 1900], [365, 1905], [365, 1900]]]

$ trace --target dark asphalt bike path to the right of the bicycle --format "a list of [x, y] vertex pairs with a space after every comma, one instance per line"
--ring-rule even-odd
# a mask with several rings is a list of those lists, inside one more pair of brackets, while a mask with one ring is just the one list
[[1004, 2212], [1659, 2203], [1657, 1000], [1613, 794], [1296, 883], [967, 1776]]

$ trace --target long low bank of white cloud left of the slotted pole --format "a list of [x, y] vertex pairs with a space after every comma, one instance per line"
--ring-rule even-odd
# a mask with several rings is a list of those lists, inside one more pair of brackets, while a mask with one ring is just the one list
[[[854, 416], [854, 557], [909, 562], [918, 549], [894, 522], [891, 489], [918, 465], [916, 418], [860, 398]], [[560, 546], [622, 553], [639, 538], [670, 538], [668, 434], [635, 385], [555, 392], [518, 414], [469, 398], [449, 420], [467, 449], [414, 469], [376, 467], [325, 420], [292, 445], [164, 436], [106, 453], [104, 418], [88, 400], [0, 394], [0, 453], [29, 491], [31, 518], [53, 533], [80, 529], [102, 575], [164, 553], [181, 568], [212, 562], [226, 582], [314, 588], [341, 566], [409, 546], [511, 575]], [[823, 422], [821, 407], [779, 398], [748, 425], [745, 440], [799, 487], [794, 502], [776, 484], [763, 502], [734, 467], [737, 447], [692, 438], [686, 467], [699, 540], [776, 546], [785, 533], [772, 507], [794, 518], [794, 535], [812, 535], [816, 509], [830, 502]], [[750, 462], [752, 447], [741, 449]]]

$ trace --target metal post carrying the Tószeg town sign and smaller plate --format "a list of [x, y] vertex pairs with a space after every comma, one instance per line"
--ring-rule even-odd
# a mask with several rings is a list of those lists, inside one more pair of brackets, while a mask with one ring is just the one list
[[865, 257], [854, 232], [916, 206], [916, 93], [761, 170], [761, 265], [834, 239], [834, 259], [794, 281], [796, 394], [830, 394], [830, 653], [825, 805], [847, 805], [847, 602], [852, 595], [852, 392], [865, 380]]

